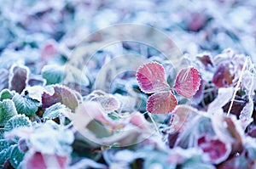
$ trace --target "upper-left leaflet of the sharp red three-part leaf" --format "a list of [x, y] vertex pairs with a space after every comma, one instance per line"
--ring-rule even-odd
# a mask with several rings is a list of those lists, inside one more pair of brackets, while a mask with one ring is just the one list
[[155, 93], [169, 88], [162, 65], [151, 62], [137, 70], [137, 82], [143, 93]]

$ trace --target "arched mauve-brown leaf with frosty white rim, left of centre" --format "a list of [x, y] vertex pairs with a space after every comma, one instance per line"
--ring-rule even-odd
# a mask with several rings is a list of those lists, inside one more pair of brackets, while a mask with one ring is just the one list
[[49, 108], [49, 106], [61, 102], [65, 104], [69, 109], [75, 110], [79, 105], [76, 94], [68, 87], [60, 85], [51, 86], [54, 93], [44, 92], [42, 95], [42, 107], [43, 109]]

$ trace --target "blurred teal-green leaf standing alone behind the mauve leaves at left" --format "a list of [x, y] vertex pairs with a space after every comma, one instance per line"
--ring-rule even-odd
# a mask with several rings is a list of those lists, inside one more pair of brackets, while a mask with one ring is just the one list
[[48, 85], [60, 83], [65, 77], [65, 70], [64, 67], [60, 65], [44, 65], [42, 75]]

